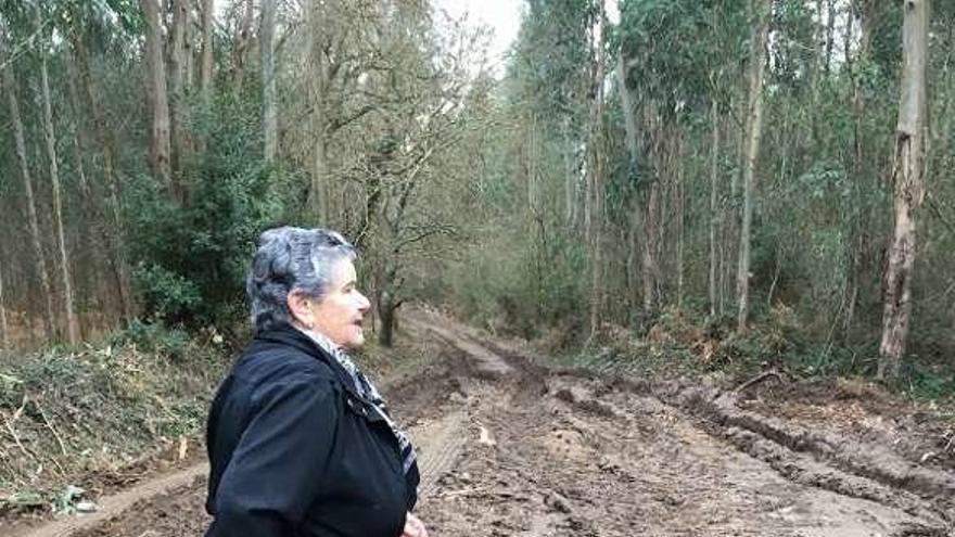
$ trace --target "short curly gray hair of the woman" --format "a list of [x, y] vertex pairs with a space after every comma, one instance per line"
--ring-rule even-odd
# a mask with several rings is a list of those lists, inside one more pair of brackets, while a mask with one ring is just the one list
[[301, 292], [321, 301], [331, 283], [332, 265], [356, 257], [355, 247], [328, 229], [283, 227], [264, 232], [245, 284], [255, 330], [291, 324], [289, 294]]

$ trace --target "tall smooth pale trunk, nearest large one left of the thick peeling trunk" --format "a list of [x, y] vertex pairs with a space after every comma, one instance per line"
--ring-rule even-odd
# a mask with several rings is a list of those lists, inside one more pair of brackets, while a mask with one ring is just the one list
[[759, 11], [759, 25], [754, 28], [754, 39], [750, 49], [750, 93], [747, 119], [746, 166], [743, 168], [742, 225], [739, 232], [739, 270], [736, 277], [739, 310], [737, 331], [746, 333], [749, 321], [750, 263], [755, 197], [756, 159], [760, 156], [760, 140], [763, 131], [763, 78], [766, 63], [766, 40], [769, 33], [772, 0], [754, 0], [754, 11]]

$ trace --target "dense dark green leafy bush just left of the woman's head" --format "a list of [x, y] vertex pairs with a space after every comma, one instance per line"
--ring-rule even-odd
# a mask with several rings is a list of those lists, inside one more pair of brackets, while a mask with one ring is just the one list
[[[241, 115], [228, 103], [217, 113]], [[238, 118], [211, 126], [206, 151], [184, 169], [181, 202], [152, 178], [130, 181], [128, 250], [148, 317], [199, 328], [228, 323], [243, 309], [255, 240], [295, 206], [301, 184], [251, 156], [257, 154], [251, 127]]]

